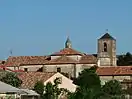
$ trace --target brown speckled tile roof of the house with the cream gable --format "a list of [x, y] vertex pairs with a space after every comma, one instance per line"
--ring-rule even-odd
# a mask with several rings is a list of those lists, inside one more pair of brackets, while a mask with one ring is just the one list
[[22, 80], [21, 88], [33, 89], [37, 81], [45, 82], [55, 73], [44, 73], [44, 72], [23, 72], [19, 73], [18, 77]]

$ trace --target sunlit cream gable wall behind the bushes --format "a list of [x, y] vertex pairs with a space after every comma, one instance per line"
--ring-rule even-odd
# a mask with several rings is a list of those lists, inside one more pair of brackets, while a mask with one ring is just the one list
[[59, 84], [59, 88], [65, 88], [67, 90], [69, 90], [70, 92], [75, 92], [77, 86], [75, 84], [72, 83], [72, 80], [68, 79], [67, 77], [63, 76], [60, 73], [56, 73], [55, 75], [53, 75], [51, 78], [49, 78], [47, 81], [44, 82], [44, 84], [46, 85], [48, 82], [51, 82], [52, 84], [54, 84], [54, 80], [59, 77], [61, 78], [61, 84]]

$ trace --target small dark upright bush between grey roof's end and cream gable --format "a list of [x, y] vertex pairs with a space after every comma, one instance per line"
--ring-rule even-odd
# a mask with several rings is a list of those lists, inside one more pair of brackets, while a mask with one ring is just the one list
[[34, 86], [34, 91], [36, 91], [38, 94], [40, 94], [40, 96], [43, 96], [43, 92], [44, 92], [44, 84], [42, 81], [38, 81], [35, 86]]

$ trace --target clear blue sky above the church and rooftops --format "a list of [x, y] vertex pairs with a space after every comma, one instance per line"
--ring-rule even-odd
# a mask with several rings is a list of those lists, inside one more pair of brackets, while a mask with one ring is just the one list
[[49, 55], [64, 48], [97, 52], [106, 31], [117, 54], [132, 51], [132, 0], [0, 0], [0, 59]]

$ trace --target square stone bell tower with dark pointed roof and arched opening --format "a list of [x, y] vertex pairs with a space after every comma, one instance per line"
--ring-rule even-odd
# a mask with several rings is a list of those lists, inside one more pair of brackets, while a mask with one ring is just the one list
[[98, 39], [98, 66], [116, 66], [116, 39], [108, 30]]

